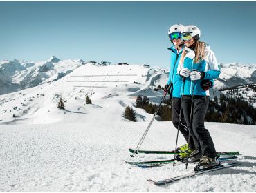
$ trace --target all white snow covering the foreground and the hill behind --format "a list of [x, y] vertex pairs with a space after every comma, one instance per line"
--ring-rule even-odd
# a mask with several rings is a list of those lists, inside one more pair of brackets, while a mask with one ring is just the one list
[[[186, 174], [194, 167], [191, 163], [188, 170], [184, 165], [141, 169], [124, 161], [129, 161], [129, 148], [136, 148], [153, 117], [135, 108], [136, 96], [147, 94], [150, 101], [159, 102], [163, 91], [152, 88], [165, 85], [167, 72], [143, 65], [77, 62], [60, 60], [44, 74], [46, 83], [0, 96], [0, 192], [256, 191], [256, 126], [252, 125], [205, 123], [217, 151], [239, 151], [241, 166], [163, 187], [147, 182]], [[72, 72], [54, 81], [57, 73], [67, 70]], [[85, 104], [86, 95], [93, 104]], [[60, 96], [66, 110], [57, 108]], [[127, 105], [139, 122], [122, 116]], [[175, 141], [172, 122], [155, 120], [140, 149], [173, 150]], [[184, 143], [180, 135], [179, 145]], [[171, 158], [141, 154], [133, 160]]]

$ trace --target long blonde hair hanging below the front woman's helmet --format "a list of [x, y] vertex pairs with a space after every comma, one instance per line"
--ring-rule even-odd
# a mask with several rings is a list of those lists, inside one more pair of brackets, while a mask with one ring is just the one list
[[[200, 61], [202, 61], [203, 59], [205, 59], [205, 42], [203, 41], [196, 41], [196, 46], [194, 48], [194, 54], [196, 54], [196, 56], [194, 57], [194, 63], [199, 63]], [[182, 54], [181, 54], [181, 62], [184, 62], [184, 58], [185, 55], [187, 54], [187, 52], [185, 50], [183, 50]]]

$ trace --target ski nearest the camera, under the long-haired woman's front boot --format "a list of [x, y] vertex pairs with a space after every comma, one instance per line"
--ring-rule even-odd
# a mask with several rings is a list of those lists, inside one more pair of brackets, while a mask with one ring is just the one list
[[222, 169], [225, 169], [225, 168], [228, 168], [228, 167], [235, 167], [237, 165], [241, 165], [241, 163], [240, 162], [224, 163], [224, 164], [221, 164], [221, 165], [217, 165], [215, 167], [211, 167], [210, 169], [203, 169], [203, 170], [199, 170], [199, 171], [194, 171], [194, 172], [191, 172], [190, 174], [184, 174], [184, 175], [176, 176], [176, 177], [173, 177], [173, 178], [170, 178], [170, 179], [164, 179], [164, 180], [161, 180], [161, 181], [154, 181], [152, 179], [147, 179], [147, 181], [152, 182], [155, 185], [165, 185], [167, 183], [172, 183], [174, 181], [178, 181], [180, 179], [185, 179], [185, 178], [188, 178], [190, 176], [196, 176], [196, 175], [204, 174], [206, 172], [213, 172], [213, 171], [216, 171], [216, 170], [222, 170]]

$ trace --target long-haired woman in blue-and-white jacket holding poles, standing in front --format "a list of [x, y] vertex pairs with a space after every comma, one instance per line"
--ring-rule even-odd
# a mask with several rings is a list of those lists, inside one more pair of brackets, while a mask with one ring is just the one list
[[209, 104], [209, 90], [202, 84], [219, 77], [220, 68], [214, 52], [204, 42], [199, 41], [201, 32], [196, 26], [185, 26], [181, 38], [185, 48], [178, 66], [179, 79], [183, 84], [183, 114], [190, 128], [190, 136], [199, 141], [199, 148], [190, 154], [192, 161], [199, 161], [196, 168], [208, 168], [219, 164], [210, 133], [204, 126], [205, 113]]

